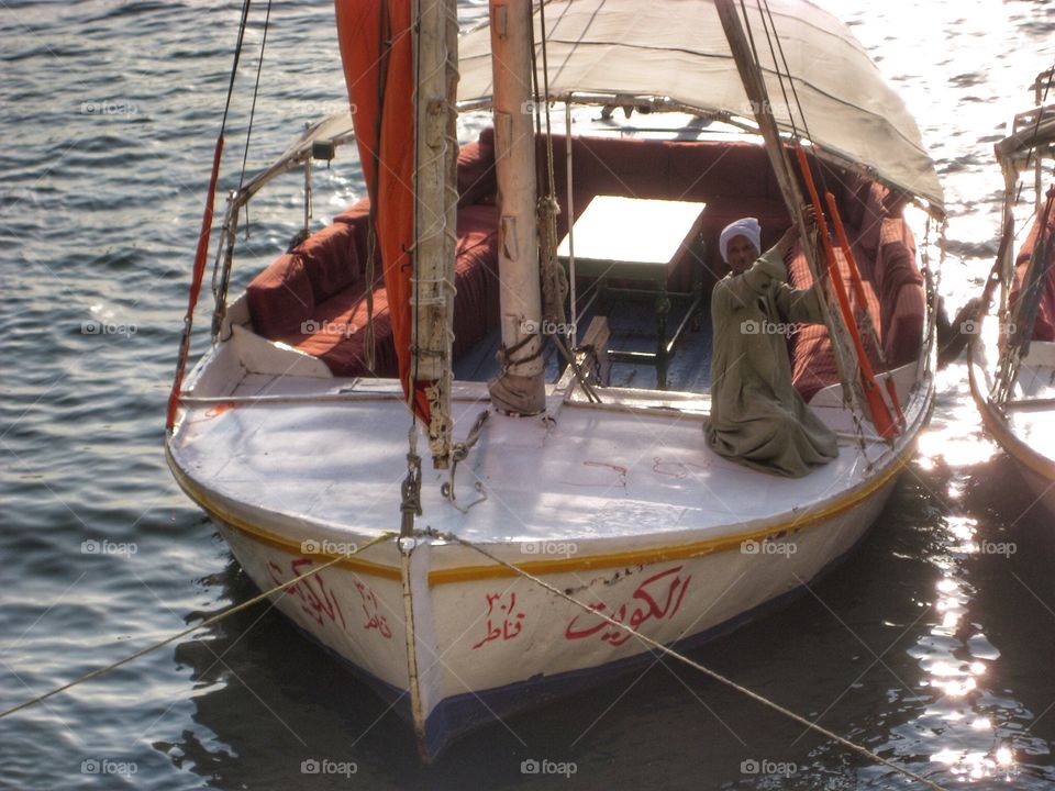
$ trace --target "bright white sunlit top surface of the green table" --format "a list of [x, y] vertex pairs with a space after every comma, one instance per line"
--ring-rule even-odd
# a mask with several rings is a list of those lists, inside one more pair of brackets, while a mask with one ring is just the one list
[[[575, 257], [600, 261], [668, 264], [707, 203], [595, 196], [575, 221]], [[570, 255], [568, 236], [557, 255]]]

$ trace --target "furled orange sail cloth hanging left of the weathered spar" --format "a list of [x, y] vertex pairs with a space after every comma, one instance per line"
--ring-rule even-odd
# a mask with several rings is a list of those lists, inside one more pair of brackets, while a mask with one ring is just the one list
[[[377, 250], [399, 360], [409, 392], [414, 243], [414, 52], [410, 0], [335, 0], [337, 41], [363, 175], [374, 207]], [[414, 412], [429, 420], [414, 382]]]

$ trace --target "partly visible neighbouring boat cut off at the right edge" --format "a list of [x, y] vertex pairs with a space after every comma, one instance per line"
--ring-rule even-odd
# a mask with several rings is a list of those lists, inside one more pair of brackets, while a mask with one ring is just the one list
[[[1043, 103], [1053, 76], [1055, 68], [1037, 75], [1036, 107], [1015, 115], [995, 146], [1004, 176], [1003, 238], [982, 315], [960, 331], [969, 335], [970, 392], [986, 430], [1055, 515], [1055, 180], [1046, 194], [1043, 188], [1055, 161], [1055, 105]], [[1032, 227], [1015, 255], [1020, 177], [1031, 168]]]

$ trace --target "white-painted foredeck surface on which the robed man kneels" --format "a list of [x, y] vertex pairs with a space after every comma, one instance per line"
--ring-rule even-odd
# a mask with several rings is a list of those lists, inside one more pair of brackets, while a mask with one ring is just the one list
[[[688, 345], [695, 350], [675, 357], [673, 370], [680, 377], [675, 381], [703, 376], [708, 335], [701, 330], [698, 343]], [[617, 367], [623, 380], [655, 377], [651, 367], [628, 368]], [[911, 368], [903, 371], [909, 381]], [[925, 393], [918, 389], [903, 401], [907, 436], [925, 420]], [[878, 467], [869, 471], [848, 414], [824, 393], [814, 408], [840, 432], [841, 454], [804, 479], [756, 472], [713, 454], [702, 436], [704, 393], [609, 387], [600, 394], [603, 403], [593, 405], [575, 385], [551, 385], [544, 417], [492, 412], [457, 469], [456, 504], [441, 494], [448, 472], [431, 468], [420, 439], [419, 526], [485, 543], [622, 537], [647, 546], [718, 537], [807, 513], [859, 484], [877, 484], [875, 469], [889, 467], [892, 476], [900, 468], [893, 463], [906, 458], [904, 441], [891, 447], [873, 435], [867, 456]], [[267, 512], [291, 536], [304, 538], [340, 541], [398, 528], [411, 419], [395, 380], [242, 369], [222, 394], [190, 398], [186, 405], [170, 450], [185, 488], [208, 499], [203, 504], [213, 513], [252, 522]], [[465, 439], [489, 405], [485, 382], [456, 383], [456, 441]]]

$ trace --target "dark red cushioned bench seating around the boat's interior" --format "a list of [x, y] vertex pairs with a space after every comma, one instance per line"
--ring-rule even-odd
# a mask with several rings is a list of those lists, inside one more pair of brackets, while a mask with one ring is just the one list
[[[545, 138], [540, 136], [538, 154], [545, 148]], [[554, 136], [553, 152], [556, 197], [565, 209], [557, 219], [558, 236], [563, 236], [569, 225], [563, 135]], [[764, 247], [775, 243], [790, 222], [766, 152], [752, 143], [576, 137], [571, 153], [576, 216], [597, 194], [707, 202], [701, 221], [703, 245], [691, 248], [692, 254], [674, 267], [670, 290], [687, 290], [695, 276], [703, 278], [709, 292], [724, 276], [718, 238], [730, 222], [758, 218]], [[548, 181], [544, 161], [540, 156], [541, 185]], [[458, 156], [456, 359], [499, 323], [493, 163], [491, 129], [464, 146]], [[909, 361], [919, 349], [924, 303], [914, 242], [899, 218], [900, 205], [878, 183], [828, 164], [812, 165], [818, 183], [825, 183], [841, 205], [886, 358], [891, 366]], [[260, 272], [247, 289], [255, 332], [319, 357], [336, 376], [370, 376], [365, 356], [368, 220], [369, 202], [363, 199]], [[809, 286], [804, 258], [789, 260], [791, 282], [799, 288]], [[396, 352], [379, 255], [375, 271], [370, 285], [374, 375], [393, 377]], [[848, 283], [848, 270], [844, 277]], [[795, 379], [809, 398], [837, 377], [826, 331], [812, 326], [797, 335], [791, 344]]]

